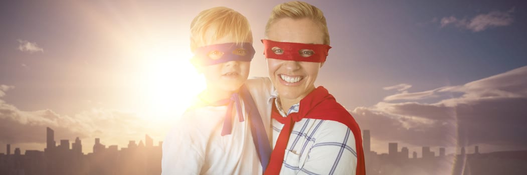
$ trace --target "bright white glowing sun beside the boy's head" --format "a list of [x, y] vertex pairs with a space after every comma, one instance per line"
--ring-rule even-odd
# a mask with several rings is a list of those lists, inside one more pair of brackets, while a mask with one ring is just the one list
[[167, 122], [181, 116], [205, 87], [205, 80], [190, 63], [187, 47], [152, 47], [145, 51], [144, 91], [149, 119]]

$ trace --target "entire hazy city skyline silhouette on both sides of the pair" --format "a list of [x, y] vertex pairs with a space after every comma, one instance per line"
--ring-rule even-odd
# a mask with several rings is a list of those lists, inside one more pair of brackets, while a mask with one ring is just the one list
[[[399, 151], [398, 142], [388, 143], [388, 153], [371, 150], [370, 131], [364, 130], [364, 155], [366, 172], [376, 174], [525, 174], [527, 172], [527, 150], [500, 151], [481, 153], [479, 146], [474, 146], [474, 152], [465, 152], [460, 148], [459, 154], [446, 155], [446, 148], [438, 148], [436, 156], [431, 147], [421, 148], [421, 157], [417, 151], [409, 150], [404, 144]], [[130, 140], [128, 146], [119, 149], [117, 145], [108, 148], [99, 138], [95, 138], [93, 152], [82, 152], [82, 140], [79, 137], [71, 143], [60, 140], [56, 146], [54, 131], [46, 128], [46, 148], [44, 151], [26, 150], [21, 153], [7, 144], [6, 153], [0, 153], [0, 175], [118, 175], [118, 174], [161, 174], [161, 146], [153, 146], [153, 140], [145, 135], [144, 141], [136, 144]]]

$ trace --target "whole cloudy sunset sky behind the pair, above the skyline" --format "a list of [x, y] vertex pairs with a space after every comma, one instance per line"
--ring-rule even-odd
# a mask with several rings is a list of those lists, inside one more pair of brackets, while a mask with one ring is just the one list
[[[2, 1], [0, 153], [95, 138], [126, 147], [162, 141], [204, 88], [188, 59], [200, 11], [245, 15], [257, 54], [250, 76], [267, 76], [264, 28], [284, 1]], [[326, 18], [326, 87], [372, 135], [421, 155], [525, 150], [527, 3], [521, 1], [306, 1]]]

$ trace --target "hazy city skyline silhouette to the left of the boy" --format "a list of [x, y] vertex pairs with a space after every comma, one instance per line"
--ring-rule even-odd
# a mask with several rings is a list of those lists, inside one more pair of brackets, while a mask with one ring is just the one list
[[95, 138], [93, 152], [85, 155], [79, 137], [71, 147], [69, 140], [60, 140], [60, 145], [55, 146], [54, 131], [48, 127], [44, 151], [26, 150], [22, 155], [20, 149], [15, 148], [14, 155], [11, 155], [11, 145], [7, 144], [7, 154], [0, 154], [0, 174], [161, 174], [161, 145], [153, 146], [148, 135], [145, 143], [140, 141], [137, 146], [135, 141], [130, 141], [128, 148], [119, 150], [116, 145], [106, 148], [99, 138]]

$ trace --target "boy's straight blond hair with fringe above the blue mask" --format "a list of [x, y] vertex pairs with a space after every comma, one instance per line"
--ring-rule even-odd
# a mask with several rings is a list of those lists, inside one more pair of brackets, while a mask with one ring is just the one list
[[[209, 29], [214, 29], [212, 38], [206, 38]], [[190, 50], [199, 45], [209, 45], [214, 40], [231, 35], [239, 43], [252, 44], [252, 32], [247, 18], [227, 7], [213, 7], [201, 11], [190, 23]]]

